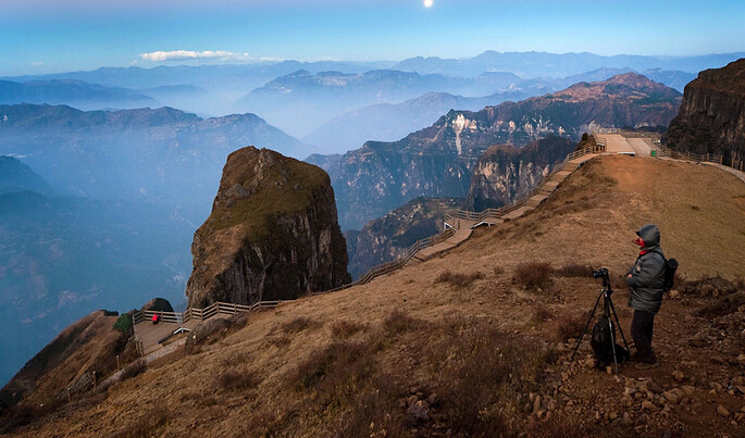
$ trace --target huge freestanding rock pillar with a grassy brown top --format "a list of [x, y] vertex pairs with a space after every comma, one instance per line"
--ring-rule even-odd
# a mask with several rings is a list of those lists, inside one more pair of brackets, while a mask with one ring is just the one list
[[328, 175], [253, 147], [228, 155], [191, 254], [186, 296], [198, 308], [293, 299], [350, 279]]

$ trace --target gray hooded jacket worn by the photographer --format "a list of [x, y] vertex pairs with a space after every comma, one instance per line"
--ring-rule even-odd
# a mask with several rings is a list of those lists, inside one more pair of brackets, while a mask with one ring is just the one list
[[644, 240], [644, 248], [629, 270], [629, 306], [656, 314], [662, 304], [665, 291], [665, 256], [659, 246], [660, 230], [657, 225], [647, 224], [636, 234]]

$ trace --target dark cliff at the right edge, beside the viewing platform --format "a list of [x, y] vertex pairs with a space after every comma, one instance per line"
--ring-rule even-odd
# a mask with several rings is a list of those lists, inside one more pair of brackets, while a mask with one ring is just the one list
[[667, 142], [679, 151], [745, 154], [745, 59], [704, 71], [685, 86]]

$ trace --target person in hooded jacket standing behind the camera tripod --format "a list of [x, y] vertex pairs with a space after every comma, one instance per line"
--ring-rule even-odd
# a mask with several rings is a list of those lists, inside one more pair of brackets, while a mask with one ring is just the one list
[[636, 231], [634, 240], [641, 247], [636, 262], [629, 270], [626, 284], [631, 288], [629, 306], [634, 310], [631, 336], [636, 346], [634, 359], [637, 370], [659, 366], [651, 349], [655, 315], [662, 304], [665, 291], [665, 254], [660, 248], [660, 230], [657, 225], [647, 224]]

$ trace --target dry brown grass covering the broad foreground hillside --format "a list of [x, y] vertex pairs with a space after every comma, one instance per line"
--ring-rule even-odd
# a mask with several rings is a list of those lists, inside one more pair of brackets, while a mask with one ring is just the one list
[[[685, 180], [686, 173], [692, 184]], [[607, 178], [597, 179], [603, 175]], [[163, 436], [369, 437], [386, 430], [387, 436], [413, 437], [432, 435], [433, 423], [444, 424], [445, 429], [438, 430], [450, 429], [451, 436], [510, 436], [514, 430], [529, 437], [634, 435], [633, 429], [596, 426], [586, 422], [584, 414], [584, 425], [572, 423], [572, 416], [533, 425], [527, 422], [526, 395], [544, 388], [545, 370], [557, 366], [551, 364], [552, 353], [545, 350], [543, 341], [579, 335], [586, 322], [584, 312], [592, 310], [597, 298], [599, 281], [555, 278], [563, 301], [548, 304], [499, 275], [469, 285], [467, 300], [462, 289], [435, 279], [456, 267], [462, 273], [491, 272], [498, 264], [511, 275], [519, 264], [536, 260], [550, 261], [554, 266], [586, 263], [610, 270], [617, 289], [614, 301], [622, 306], [626, 296], [621, 276], [636, 256], [631, 240], [634, 230], [646, 222], [660, 225], [666, 254], [681, 261], [684, 276], [697, 278], [701, 273], [711, 276], [719, 272], [734, 278], [743, 274], [745, 203], [727, 199], [745, 195], [745, 186], [730, 184], [728, 178], [708, 167], [604, 158], [572, 175], [536, 210], [538, 214], [477, 229], [469, 241], [446, 255], [408, 265], [370, 284], [257, 313], [251, 324], [204, 346], [201, 352], [112, 387], [100, 405], [70, 410], [53, 423], [38, 422], [17, 435], [109, 436], [116, 431], [117, 422], [135, 424], [148, 412], [144, 406], [157, 404], [171, 413], [189, 413], [170, 415], [160, 428]], [[690, 208], [694, 204], [699, 210]], [[567, 208], [556, 214], [572, 205], [582, 208]], [[676, 209], [684, 212], [680, 220], [674, 217]], [[531, 222], [544, 213], [539, 226], [543, 235], [526, 234]], [[688, 217], [694, 214], [706, 217]], [[710, 223], [719, 226], [708, 226]], [[703, 242], [710, 249], [701, 251]], [[684, 300], [694, 299], [684, 295]], [[680, 322], [692, 312], [681, 304], [684, 300], [663, 303], [656, 318], [663, 327], [655, 335], [660, 342], [675, 341], [667, 329], [679, 329]], [[555, 320], [536, 325], [535, 309], [542, 302], [550, 306]], [[626, 329], [631, 314], [624, 311], [618, 309]], [[281, 329], [309, 315], [330, 329], [302, 329], [291, 338]], [[346, 335], [347, 329], [339, 328], [339, 335], [334, 335], [337, 321], [365, 329]], [[282, 348], [271, 343], [277, 335], [287, 339]], [[501, 356], [493, 353], [497, 348]], [[225, 373], [226, 363], [239, 363], [239, 370], [261, 381], [248, 399], [241, 391], [216, 386], [215, 376]], [[505, 379], [504, 373], [516, 377]], [[666, 368], [665, 376], [669, 374]], [[592, 402], [596, 396], [591, 392], [599, 384], [614, 385], [605, 375], [593, 375], [593, 384], [585, 377], [572, 377], [572, 385], [586, 391], [573, 397]], [[414, 386], [439, 396], [435, 420], [412, 422], [408, 406], [400, 408], [401, 399], [409, 397]], [[674, 412], [671, 415], [687, 421], [675, 417]], [[727, 427], [729, 423], [722, 422]], [[497, 431], [499, 425], [506, 428]], [[417, 433], [412, 433], [414, 427]]]

